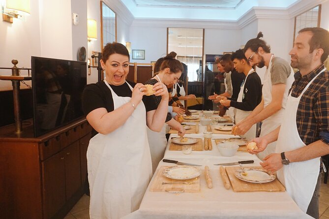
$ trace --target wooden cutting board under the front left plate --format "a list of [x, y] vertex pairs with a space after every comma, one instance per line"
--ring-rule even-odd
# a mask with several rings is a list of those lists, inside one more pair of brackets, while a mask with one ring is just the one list
[[[194, 179], [188, 179], [188, 180], [176, 180], [176, 179], [170, 179], [162, 175], [162, 170], [167, 168], [169, 166], [161, 166], [161, 168], [158, 170], [152, 185], [150, 186], [151, 192], [166, 192], [166, 190], [170, 191], [173, 189], [183, 189], [184, 192], [200, 192], [200, 176]], [[186, 185], [183, 183], [177, 183], [177, 184], [169, 184], [169, 185], [162, 185], [162, 183], [171, 183], [171, 182], [191, 182], [192, 184]]]

